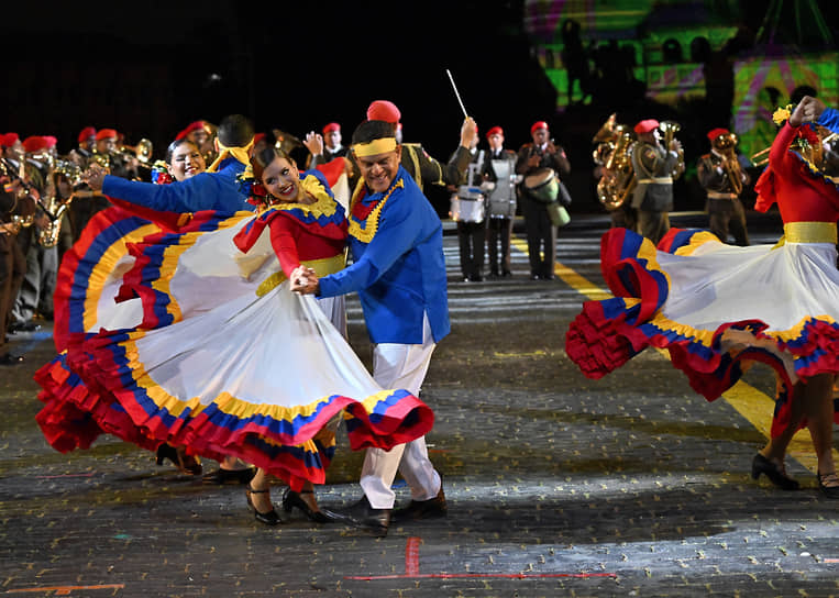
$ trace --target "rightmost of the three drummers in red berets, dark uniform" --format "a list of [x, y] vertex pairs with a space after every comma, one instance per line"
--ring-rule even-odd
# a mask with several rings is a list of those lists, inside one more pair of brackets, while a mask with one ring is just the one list
[[[533, 189], [528, 189], [527, 177], [550, 168], [556, 176], [571, 173], [571, 163], [562, 146], [550, 135], [545, 121], [534, 122], [530, 128], [532, 143], [519, 148], [516, 173], [526, 179], [520, 187], [521, 213], [528, 237], [528, 258], [531, 280], [553, 280], [553, 264], [556, 259], [556, 224], [549, 213], [550, 201], [541, 199]], [[550, 198], [555, 201], [556, 198]]]

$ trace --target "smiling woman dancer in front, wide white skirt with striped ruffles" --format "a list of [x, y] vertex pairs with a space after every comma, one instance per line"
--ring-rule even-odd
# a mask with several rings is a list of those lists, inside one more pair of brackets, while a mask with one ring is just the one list
[[[168, 442], [261, 467], [249, 498], [256, 519], [268, 524], [279, 518], [265, 474], [298, 492], [323, 483], [332, 446], [320, 432], [342, 411], [353, 450], [388, 450], [433, 422], [415, 396], [375, 384], [313, 298], [290, 292], [284, 270], [300, 265], [289, 257], [292, 248], [302, 264], [327, 274], [343, 264], [346, 224], [319, 174], [295, 181], [294, 164], [277, 159], [276, 185], [268, 178], [275, 169], [262, 177], [279, 196], [276, 206], [267, 199], [256, 217], [197, 212], [131, 246], [134, 264], [117, 295], [136, 298], [140, 323], [70, 334], [69, 370], [86, 385], [80, 400], [42, 384], [47, 407], [70, 406], [85, 416], [53, 418], [63, 433], [92, 422], [93, 432], [141, 446]], [[298, 186], [303, 196], [292, 192]], [[297, 498], [286, 508], [320, 519], [313, 496]]]

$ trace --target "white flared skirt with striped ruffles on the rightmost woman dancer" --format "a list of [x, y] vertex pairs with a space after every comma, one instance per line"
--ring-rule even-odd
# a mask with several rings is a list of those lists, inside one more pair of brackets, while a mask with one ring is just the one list
[[[836, 246], [726, 245], [706, 231], [672, 229], [658, 248], [626, 229], [601, 240], [616, 296], [587, 301], [566, 335], [590, 378], [648, 346], [665, 348], [691, 386], [715, 400], [754, 362], [781, 381], [772, 432], [785, 429], [792, 386], [839, 372]], [[839, 422], [839, 417], [837, 417]]]

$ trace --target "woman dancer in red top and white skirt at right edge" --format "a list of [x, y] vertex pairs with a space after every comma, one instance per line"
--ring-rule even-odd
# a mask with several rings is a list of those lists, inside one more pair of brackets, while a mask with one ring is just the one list
[[808, 425], [818, 457], [818, 485], [839, 498], [830, 433], [832, 376], [839, 372], [839, 272], [836, 242], [839, 190], [818, 169], [819, 139], [802, 126], [801, 107], [779, 132], [757, 209], [777, 202], [785, 242], [735, 247], [708, 232], [672, 230], [658, 251], [625, 229], [601, 242], [604, 277], [615, 294], [588, 301], [566, 336], [568, 356], [599, 378], [647, 346], [667, 348], [691, 386], [715, 400], [751, 362], [781, 379], [772, 440], [755, 456], [761, 473], [784, 488], [783, 454]]

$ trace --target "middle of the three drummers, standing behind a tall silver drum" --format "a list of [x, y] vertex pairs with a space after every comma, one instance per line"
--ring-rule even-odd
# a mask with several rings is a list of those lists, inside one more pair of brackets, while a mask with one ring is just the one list
[[[510, 237], [516, 215], [516, 152], [504, 148], [504, 129], [493, 126], [486, 133], [489, 152], [484, 157], [484, 178], [493, 184], [488, 193], [486, 243], [489, 252], [489, 276], [512, 276]], [[503, 170], [501, 176], [496, 169]]]

